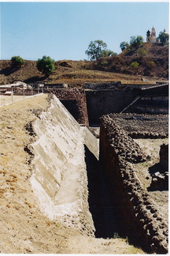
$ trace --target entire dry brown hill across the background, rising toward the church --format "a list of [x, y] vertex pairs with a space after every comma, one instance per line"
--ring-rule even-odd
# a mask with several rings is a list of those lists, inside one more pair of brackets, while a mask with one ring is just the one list
[[[131, 62], [138, 62], [137, 69]], [[168, 80], [168, 46], [143, 43], [136, 51], [124, 50], [120, 55], [99, 58], [96, 62], [61, 60], [55, 62], [54, 73], [45, 77], [36, 68], [36, 61], [25, 60], [21, 68], [13, 68], [10, 60], [0, 60], [0, 85], [24, 81], [35, 83], [66, 83], [70, 87], [81, 87], [85, 82], [121, 81], [142, 84]]]

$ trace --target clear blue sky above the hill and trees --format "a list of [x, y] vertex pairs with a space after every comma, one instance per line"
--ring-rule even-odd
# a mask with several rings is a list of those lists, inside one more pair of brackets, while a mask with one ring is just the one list
[[[120, 43], [154, 26], [168, 32], [168, 2], [0, 2], [1, 59], [43, 55], [87, 59], [91, 41], [103, 40], [119, 54]], [[168, 32], [169, 33], [169, 32]]]

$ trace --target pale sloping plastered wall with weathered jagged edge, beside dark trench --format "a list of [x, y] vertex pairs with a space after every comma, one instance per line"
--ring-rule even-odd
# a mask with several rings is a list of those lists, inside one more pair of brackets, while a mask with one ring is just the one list
[[51, 220], [94, 235], [87, 203], [84, 144], [98, 157], [98, 141], [79, 126], [56, 96], [33, 123], [36, 134], [31, 184], [39, 207]]

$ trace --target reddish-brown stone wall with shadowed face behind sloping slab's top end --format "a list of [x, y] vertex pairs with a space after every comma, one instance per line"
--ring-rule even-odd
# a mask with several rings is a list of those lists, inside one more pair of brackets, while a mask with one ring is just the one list
[[45, 89], [44, 92], [54, 93], [55, 96], [72, 116], [76, 119], [79, 124], [88, 126], [88, 116], [87, 116], [87, 101], [84, 90], [78, 88], [69, 89]]

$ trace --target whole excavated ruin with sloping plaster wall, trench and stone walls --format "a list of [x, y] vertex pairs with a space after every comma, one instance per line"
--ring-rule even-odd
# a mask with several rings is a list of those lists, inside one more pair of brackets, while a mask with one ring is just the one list
[[146, 253], [167, 254], [168, 84], [42, 92], [49, 107], [25, 127], [36, 139], [24, 148], [42, 213], [85, 235], [119, 234]]

